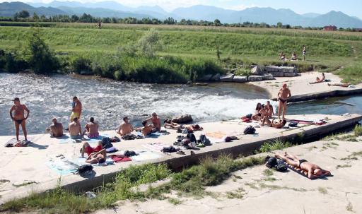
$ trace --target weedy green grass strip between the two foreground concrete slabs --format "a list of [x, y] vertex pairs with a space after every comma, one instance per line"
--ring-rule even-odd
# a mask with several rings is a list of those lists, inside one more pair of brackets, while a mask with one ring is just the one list
[[[26, 198], [8, 201], [0, 206], [0, 211], [42, 210], [45, 213], [90, 213], [101, 208], [111, 208], [115, 202], [122, 200], [140, 200], [148, 198], [167, 198], [171, 190], [179, 194], [202, 197], [208, 194], [205, 186], [221, 184], [232, 172], [254, 165], [264, 164], [264, 157], [248, 157], [233, 160], [224, 155], [218, 159], [206, 158], [200, 165], [194, 165], [182, 172], [172, 174], [166, 165], [131, 166], [119, 173], [115, 182], [105, 184], [94, 190], [96, 198], [90, 199], [84, 194], [74, 194], [62, 189], [43, 194], [32, 194]], [[160, 186], [149, 186], [146, 191], [139, 191], [140, 184], [150, 184], [170, 177], [170, 182]], [[168, 198], [170, 203], [178, 204], [175, 198]]]

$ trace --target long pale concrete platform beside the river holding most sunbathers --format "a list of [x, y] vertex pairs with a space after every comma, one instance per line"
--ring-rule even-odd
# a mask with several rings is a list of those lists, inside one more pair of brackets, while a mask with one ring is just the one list
[[[325, 119], [327, 124], [323, 126], [302, 126], [298, 129], [273, 129], [270, 127], [257, 128], [257, 135], [243, 135], [243, 130], [247, 125], [240, 121], [222, 121], [215, 123], [202, 124], [204, 131], [195, 133], [198, 137], [202, 133], [211, 136], [210, 133], [218, 135], [238, 136], [238, 141], [231, 143], [214, 143], [206, 148], [194, 150], [195, 155], [177, 155], [175, 153], [165, 155], [158, 153], [160, 158], [148, 160], [147, 162], [166, 162], [175, 169], [185, 165], [193, 164], [206, 155], [220, 155], [221, 153], [230, 153], [235, 156], [243, 154], [247, 155], [255, 149], [259, 148], [264, 142], [273, 141], [277, 138], [315, 138], [323, 136], [333, 131], [344, 129], [347, 126], [354, 126], [356, 121], [362, 119], [359, 114], [352, 114], [351, 117], [342, 117], [335, 115], [294, 115], [289, 119]], [[218, 131], [219, 133], [215, 133]], [[114, 143], [118, 150], [149, 150], [144, 145], [148, 143], [164, 143], [172, 145], [176, 136], [180, 133], [170, 131], [168, 136], [160, 136], [158, 138], [145, 138], [135, 141], [122, 141]], [[115, 131], [104, 131], [102, 134], [115, 136]], [[13, 136], [0, 136], [0, 143], [4, 145], [6, 141]], [[81, 143], [60, 143], [56, 138], [49, 138], [48, 135], [40, 134], [30, 136], [33, 145], [25, 148], [3, 148], [0, 152], [1, 175], [0, 175], [0, 203], [4, 203], [11, 198], [27, 196], [31, 192], [46, 191], [57, 186], [59, 180], [66, 189], [74, 191], [91, 189], [95, 186], [110, 182], [115, 174], [129, 165], [143, 164], [144, 162], [122, 162], [107, 167], [95, 167], [95, 174], [92, 177], [80, 177], [75, 174], [60, 176], [54, 170], [47, 167], [46, 162], [55, 158], [59, 154], [63, 154], [67, 160], [77, 160], [80, 156], [79, 149]], [[157, 153], [157, 152], [156, 152]], [[6, 182], [6, 180], [8, 182]], [[31, 183], [31, 184], [29, 184]]]

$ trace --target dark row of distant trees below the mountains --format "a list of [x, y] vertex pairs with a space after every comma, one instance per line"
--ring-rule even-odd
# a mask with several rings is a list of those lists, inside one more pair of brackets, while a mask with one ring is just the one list
[[[95, 17], [91, 14], [83, 13], [81, 16], [76, 15], [54, 15], [54, 16], [39, 16], [33, 13], [30, 16], [28, 11], [20, 11], [14, 14], [13, 17], [0, 17], [0, 21], [14, 21], [14, 22], [45, 22], [45, 23], [120, 23], [120, 24], [146, 24], [146, 25], [198, 25], [198, 26], [224, 26], [224, 27], [247, 27], [247, 28], [284, 28], [284, 29], [305, 29], [305, 30], [322, 30], [323, 28], [317, 27], [302, 27], [292, 26], [283, 23], [276, 25], [269, 25], [267, 23], [252, 23], [249, 21], [243, 23], [221, 23], [217, 18], [214, 21], [208, 20], [189, 20], [182, 18], [177, 21], [174, 18], [166, 18], [160, 20], [158, 18], [117, 18], [117, 17]], [[339, 28], [339, 30], [355, 31], [354, 28]]]

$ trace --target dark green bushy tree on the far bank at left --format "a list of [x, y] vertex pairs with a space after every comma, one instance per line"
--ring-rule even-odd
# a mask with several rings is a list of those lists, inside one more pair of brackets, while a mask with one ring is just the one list
[[28, 40], [29, 65], [35, 73], [52, 73], [59, 69], [59, 61], [40, 37], [40, 29], [33, 29]]

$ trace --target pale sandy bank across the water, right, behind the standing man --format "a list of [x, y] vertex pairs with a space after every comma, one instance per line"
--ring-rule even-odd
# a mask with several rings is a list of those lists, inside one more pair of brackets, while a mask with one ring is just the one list
[[327, 97], [337, 97], [346, 95], [356, 95], [362, 93], [362, 83], [355, 85], [355, 88], [344, 88], [339, 86], [328, 86], [328, 83], [341, 83], [342, 79], [333, 73], [325, 73], [326, 79], [330, 80], [328, 83], [315, 82], [317, 76], [321, 77], [322, 73], [313, 71], [300, 73], [300, 76], [295, 77], [280, 77], [272, 81], [250, 82], [248, 84], [257, 85], [264, 88], [269, 93], [272, 100], [277, 100], [279, 89], [283, 83], [288, 84], [291, 90], [292, 97], [288, 102], [302, 102], [308, 100], [317, 100]]

